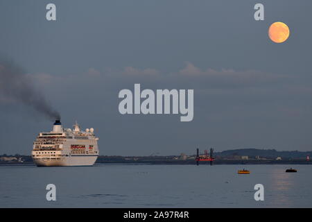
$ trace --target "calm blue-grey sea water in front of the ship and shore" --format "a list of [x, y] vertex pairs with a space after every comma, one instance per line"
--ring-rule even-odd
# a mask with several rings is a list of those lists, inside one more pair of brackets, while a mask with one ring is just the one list
[[[2, 166], [0, 207], [312, 207], [311, 176], [311, 165]], [[46, 200], [50, 183], [56, 201]], [[264, 201], [254, 200], [258, 183]]]

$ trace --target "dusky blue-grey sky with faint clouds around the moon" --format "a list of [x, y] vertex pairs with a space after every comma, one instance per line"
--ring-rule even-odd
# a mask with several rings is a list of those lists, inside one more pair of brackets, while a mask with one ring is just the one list
[[[55, 3], [57, 21], [45, 19]], [[265, 20], [253, 19], [263, 3]], [[1, 1], [0, 53], [101, 155], [175, 155], [214, 146], [311, 150], [312, 1]], [[275, 44], [268, 27], [285, 22]], [[121, 115], [118, 93], [194, 89], [194, 119]], [[0, 153], [30, 154], [51, 122], [0, 96]]]

